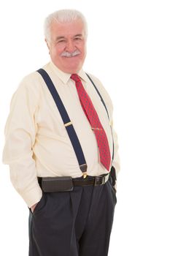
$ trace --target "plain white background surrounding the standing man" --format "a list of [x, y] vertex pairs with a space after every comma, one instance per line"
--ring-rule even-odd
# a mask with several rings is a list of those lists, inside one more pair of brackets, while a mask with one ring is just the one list
[[[44, 18], [63, 8], [87, 18], [84, 69], [102, 81], [115, 107], [121, 172], [109, 256], [169, 256], [169, 1], [1, 1], [0, 150], [18, 83], [49, 61]], [[0, 255], [28, 255], [28, 208], [2, 164], [0, 201]]]

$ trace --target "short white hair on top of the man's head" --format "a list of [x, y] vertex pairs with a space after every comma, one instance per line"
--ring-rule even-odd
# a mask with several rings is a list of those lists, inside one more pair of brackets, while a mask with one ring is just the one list
[[44, 24], [44, 32], [45, 32], [45, 39], [50, 42], [50, 26], [53, 21], [58, 23], [69, 23], [73, 22], [74, 20], [82, 20], [82, 23], [85, 28], [85, 37], [88, 36], [88, 25], [85, 20], [85, 16], [82, 15], [81, 12], [77, 10], [65, 9], [65, 10], [58, 10], [56, 12], [51, 13], [45, 19]]

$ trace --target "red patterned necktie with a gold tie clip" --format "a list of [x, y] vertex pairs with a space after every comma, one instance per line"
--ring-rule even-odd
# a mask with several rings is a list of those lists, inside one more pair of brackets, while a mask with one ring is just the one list
[[104, 128], [101, 125], [101, 122], [98, 118], [98, 114], [96, 113], [96, 110], [93, 106], [93, 103], [88, 96], [87, 92], [85, 91], [84, 87], [82, 86], [82, 82], [80, 80], [80, 77], [77, 74], [71, 75], [72, 80], [76, 83], [77, 92], [79, 94], [80, 103], [82, 105], [82, 109], [85, 112], [85, 115], [88, 118], [88, 121], [90, 122], [90, 125], [93, 129], [93, 132], [96, 135], [96, 140], [98, 143], [98, 148], [100, 152], [100, 161], [101, 164], [104, 165], [104, 167], [109, 170], [111, 157], [110, 157], [110, 151], [109, 151], [109, 143], [107, 140], [107, 135], [104, 132]]

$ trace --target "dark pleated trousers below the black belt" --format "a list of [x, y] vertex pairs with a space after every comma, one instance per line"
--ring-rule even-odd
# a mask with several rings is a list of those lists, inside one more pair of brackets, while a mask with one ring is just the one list
[[115, 204], [110, 181], [44, 192], [29, 215], [29, 256], [107, 256]]

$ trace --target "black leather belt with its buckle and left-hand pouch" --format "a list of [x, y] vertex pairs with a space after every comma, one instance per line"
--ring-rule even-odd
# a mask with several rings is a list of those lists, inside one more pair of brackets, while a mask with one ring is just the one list
[[99, 186], [109, 180], [109, 173], [101, 176], [90, 176], [88, 178], [63, 177], [38, 177], [39, 185], [44, 192], [72, 191], [75, 186]]

